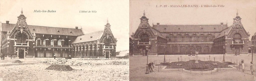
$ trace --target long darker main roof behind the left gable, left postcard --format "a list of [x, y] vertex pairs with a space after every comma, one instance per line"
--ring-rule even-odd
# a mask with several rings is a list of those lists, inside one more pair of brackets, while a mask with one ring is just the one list
[[[12, 31], [14, 26], [15, 24], [2, 23], [2, 31], [4, 32]], [[83, 34], [82, 29], [75, 29], [75, 28], [60, 28], [60, 27], [46, 27], [46, 26], [33, 26], [33, 25], [28, 25], [28, 28], [32, 33], [36, 33], [36, 34], [69, 35], [69, 36], [77, 36], [77, 35]]]

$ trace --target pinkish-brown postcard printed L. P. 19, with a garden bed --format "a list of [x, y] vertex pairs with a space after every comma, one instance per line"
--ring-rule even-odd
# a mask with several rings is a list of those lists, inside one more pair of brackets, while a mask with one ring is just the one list
[[255, 3], [130, 0], [130, 81], [255, 81]]

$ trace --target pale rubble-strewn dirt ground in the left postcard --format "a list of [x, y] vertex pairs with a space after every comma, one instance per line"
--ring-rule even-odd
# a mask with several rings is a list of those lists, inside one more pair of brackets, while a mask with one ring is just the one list
[[[128, 81], [129, 65], [70, 65], [72, 71], [46, 70], [51, 64], [40, 63], [46, 59], [18, 59], [28, 65], [10, 65], [13, 59], [0, 60], [0, 78], [4, 81]], [[52, 60], [52, 59], [51, 59]], [[72, 59], [76, 60], [77, 59]], [[129, 60], [127, 60], [129, 62]], [[90, 60], [93, 64], [93, 60]], [[96, 61], [95, 61], [96, 62]], [[104, 64], [104, 60], [97, 60]]]

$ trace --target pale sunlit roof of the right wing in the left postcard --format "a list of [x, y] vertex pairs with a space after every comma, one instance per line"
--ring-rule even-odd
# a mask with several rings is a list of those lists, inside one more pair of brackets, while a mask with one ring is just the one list
[[78, 36], [71, 44], [98, 40], [99, 38], [101, 38], [102, 35], [103, 35], [103, 31], [81, 35], [81, 36]]

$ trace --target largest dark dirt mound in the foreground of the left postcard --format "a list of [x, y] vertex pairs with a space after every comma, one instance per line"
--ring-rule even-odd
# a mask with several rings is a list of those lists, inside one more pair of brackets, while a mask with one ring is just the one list
[[71, 68], [69, 65], [50, 65], [46, 68], [47, 70], [61, 70], [61, 71], [71, 71], [73, 68]]

